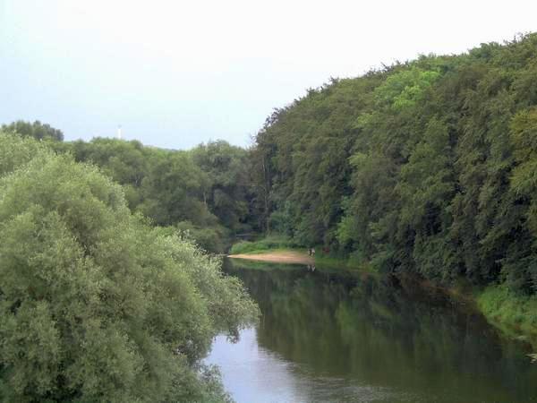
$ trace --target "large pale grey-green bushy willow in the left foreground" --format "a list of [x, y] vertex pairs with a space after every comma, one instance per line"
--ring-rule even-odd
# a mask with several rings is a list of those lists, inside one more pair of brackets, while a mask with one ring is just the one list
[[13, 135], [0, 155], [0, 399], [226, 400], [200, 359], [256, 318], [239, 280], [96, 167]]

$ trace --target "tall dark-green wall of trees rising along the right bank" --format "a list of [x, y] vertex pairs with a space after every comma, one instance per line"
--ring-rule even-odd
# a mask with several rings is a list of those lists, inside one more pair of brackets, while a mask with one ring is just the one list
[[332, 80], [256, 138], [264, 229], [378, 270], [537, 291], [537, 35]]

